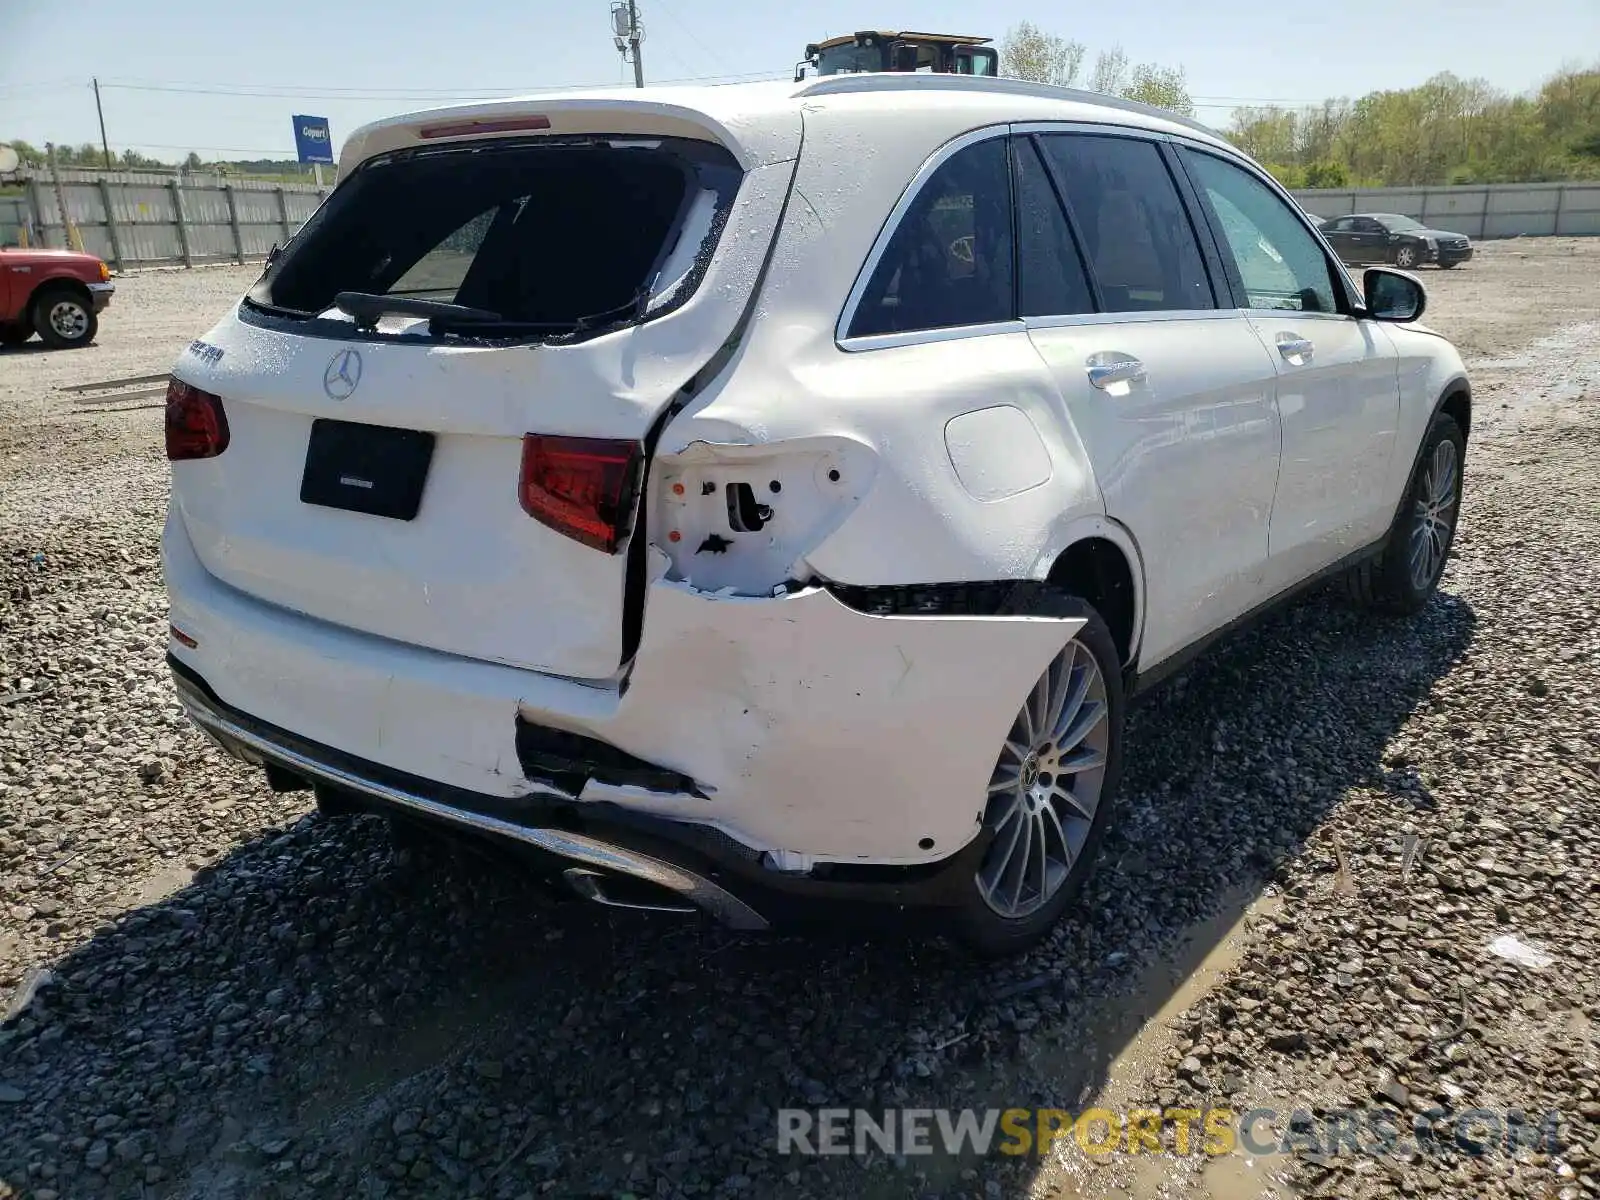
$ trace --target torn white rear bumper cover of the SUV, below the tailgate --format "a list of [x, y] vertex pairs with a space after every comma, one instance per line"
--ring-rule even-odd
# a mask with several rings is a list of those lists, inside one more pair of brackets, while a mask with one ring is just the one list
[[656, 579], [629, 675], [589, 683], [266, 605], [205, 571], [176, 514], [163, 555], [173, 624], [195, 642], [173, 642], [174, 670], [226, 714], [523, 816], [683, 829], [770, 875], [970, 848], [1011, 720], [1078, 627]]

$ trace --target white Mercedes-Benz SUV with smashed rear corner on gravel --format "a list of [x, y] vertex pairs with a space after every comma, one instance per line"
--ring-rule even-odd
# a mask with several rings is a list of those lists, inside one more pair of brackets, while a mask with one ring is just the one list
[[314, 787], [738, 928], [1019, 950], [1123, 707], [1334, 576], [1411, 613], [1470, 392], [1205, 128], [994, 78], [378, 122], [173, 368], [170, 661]]

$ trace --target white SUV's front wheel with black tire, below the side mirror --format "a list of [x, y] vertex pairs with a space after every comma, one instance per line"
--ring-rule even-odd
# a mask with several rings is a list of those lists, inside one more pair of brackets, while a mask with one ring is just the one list
[[[1446, 445], [1450, 450], [1443, 450]], [[1438, 589], [1438, 578], [1445, 573], [1445, 563], [1456, 542], [1466, 458], [1467, 440], [1461, 434], [1461, 426], [1450, 414], [1438, 413], [1422, 438], [1422, 450], [1416, 456], [1411, 482], [1389, 528], [1389, 542], [1382, 555], [1362, 563], [1346, 576], [1346, 587], [1355, 603], [1395, 616], [1419, 613], [1427, 605]], [[1443, 474], [1445, 459], [1451, 466], [1451, 494], [1443, 506], [1438, 506], [1434, 493], [1440, 486], [1438, 475]], [[1429, 512], [1434, 514], [1432, 522]], [[1434, 534], [1427, 533], [1430, 523]], [[1418, 555], [1424, 552], [1424, 542], [1427, 562], [1419, 566]]]

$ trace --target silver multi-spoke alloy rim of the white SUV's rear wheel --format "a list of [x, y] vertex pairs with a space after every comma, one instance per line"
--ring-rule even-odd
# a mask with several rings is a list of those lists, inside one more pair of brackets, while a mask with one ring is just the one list
[[994, 840], [978, 891], [997, 915], [1030, 917], [1061, 891], [1094, 826], [1109, 750], [1106, 678], [1072, 640], [1022, 704], [989, 781]]

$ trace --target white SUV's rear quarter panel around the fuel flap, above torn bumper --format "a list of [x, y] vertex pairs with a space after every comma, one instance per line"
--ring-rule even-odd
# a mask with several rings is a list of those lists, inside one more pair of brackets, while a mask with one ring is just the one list
[[[1054, 378], [1022, 326], [854, 350], [834, 336], [896, 202], [958, 130], [949, 122], [918, 130], [902, 106], [862, 102], [843, 117], [827, 102], [808, 104], [805, 128], [755, 320], [728, 368], [667, 426], [658, 453], [706, 442], [760, 445], [778, 456], [784, 443], [814, 437], [869, 448], [877, 458], [870, 488], [837, 528], [803, 549], [802, 579], [805, 571], [848, 584], [1042, 578], [1067, 526], [1106, 509]], [[960, 422], [997, 406], [1019, 410], [1026, 422], [1014, 424], [1030, 424], [1042, 451], [1026, 448], [1034, 456], [1026, 477], [974, 494], [952, 453], [966, 466], [1003, 461], [1005, 448], [952, 451], [946, 429], [952, 421], [957, 430], [998, 429], [995, 419]], [[782, 506], [771, 507], [781, 523]], [[661, 536], [653, 541], [667, 549]], [[683, 578], [698, 584], [693, 565]]]

